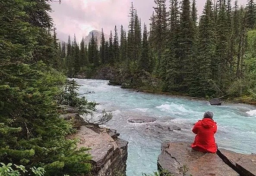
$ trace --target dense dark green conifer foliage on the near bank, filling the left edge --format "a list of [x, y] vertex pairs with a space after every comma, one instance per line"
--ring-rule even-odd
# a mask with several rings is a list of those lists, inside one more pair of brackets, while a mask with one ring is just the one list
[[[66, 138], [75, 129], [57, 113], [56, 95], [66, 78], [56, 70], [60, 49], [55, 30], [51, 36], [48, 1], [5, 0], [0, 6], [0, 161], [43, 167], [45, 176], [88, 174], [88, 149], [77, 150]], [[68, 49], [71, 58], [77, 50], [71, 43]]]

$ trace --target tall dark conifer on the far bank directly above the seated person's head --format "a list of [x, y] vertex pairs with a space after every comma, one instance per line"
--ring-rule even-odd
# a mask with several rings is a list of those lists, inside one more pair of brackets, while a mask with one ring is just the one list
[[209, 96], [215, 93], [212, 82], [209, 82], [212, 76], [212, 67], [215, 67], [212, 65], [215, 51], [213, 20], [212, 1], [207, 0], [199, 23], [199, 56], [196, 65], [199, 69], [195, 85], [190, 90], [192, 95]]

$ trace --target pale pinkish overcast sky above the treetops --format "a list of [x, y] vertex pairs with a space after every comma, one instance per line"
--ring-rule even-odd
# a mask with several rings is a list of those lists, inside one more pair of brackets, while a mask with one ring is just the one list
[[[101, 31], [103, 28], [104, 32], [109, 34], [110, 30], [114, 31], [115, 25], [118, 31], [123, 25], [127, 30], [128, 12], [132, 1], [142, 23], [145, 22], [148, 25], [152, 7], [155, 6], [154, 0], [62, 0], [61, 4], [52, 3], [54, 12], [51, 16], [60, 40], [66, 41], [69, 34], [70, 36], [76, 34], [77, 40], [81, 40], [82, 36], [87, 36], [95, 29]], [[205, 1], [197, 0], [196, 2], [199, 14], [202, 12]], [[245, 4], [247, 0], [238, 0], [238, 2]]]

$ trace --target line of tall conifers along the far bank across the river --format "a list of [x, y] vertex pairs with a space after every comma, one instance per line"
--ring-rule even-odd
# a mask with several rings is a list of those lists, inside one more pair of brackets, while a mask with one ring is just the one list
[[[107, 65], [126, 71], [144, 70], [161, 80], [161, 91], [190, 96], [253, 96], [256, 5], [234, 6], [231, 0], [206, 0], [198, 18], [196, 1], [155, 0], [149, 29], [133, 3], [126, 32], [117, 27], [109, 39], [92, 37], [88, 46], [62, 47], [69, 75]], [[97, 44], [100, 40], [100, 46]], [[79, 51], [80, 49], [80, 51]], [[79, 64], [78, 64], [79, 63]]]

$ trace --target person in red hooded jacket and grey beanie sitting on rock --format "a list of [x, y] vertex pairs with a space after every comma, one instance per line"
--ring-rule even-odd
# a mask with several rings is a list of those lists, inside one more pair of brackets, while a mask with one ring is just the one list
[[193, 133], [196, 134], [194, 142], [191, 147], [194, 150], [216, 153], [217, 145], [215, 143], [214, 134], [217, 131], [217, 123], [212, 120], [213, 112], [206, 111], [203, 119], [196, 122], [193, 127]]

